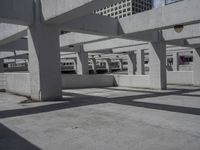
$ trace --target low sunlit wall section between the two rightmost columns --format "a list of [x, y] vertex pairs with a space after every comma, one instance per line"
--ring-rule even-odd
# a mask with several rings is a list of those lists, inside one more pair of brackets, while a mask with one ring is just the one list
[[192, 71], [168, 71], [167, 83], [168, 84], [192, 84]]

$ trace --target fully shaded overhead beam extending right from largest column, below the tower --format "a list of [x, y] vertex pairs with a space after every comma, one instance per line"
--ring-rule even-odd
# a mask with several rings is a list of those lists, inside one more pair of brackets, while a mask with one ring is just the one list
[[117, 36], [120, 33], [120, 26], [117, 19], [89, 14], [60, 25], [62, 30], [96, 34], [103, 36]]

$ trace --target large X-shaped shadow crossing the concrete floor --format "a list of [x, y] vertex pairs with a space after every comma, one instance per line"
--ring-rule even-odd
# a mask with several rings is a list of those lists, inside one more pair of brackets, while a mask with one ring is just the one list
[[137, 99], [177, 95], [177, 94], [183, 94], [183, 93], [189, 93], [189, 92], [195, 92], [195, 91], [199, 91], [199, 89], [193, 89], [193, 90], [184, 89], [180, 91], [165, 92], [165, 93], [154, 92], [151, 94], [124, 96], [124, 97], [117, 97], [117, 98], [105, 98], [105, 97], [99, 97], [99, 96], [90, 96], [90, 95], [63, 92], [63, 95], [67, 95], [67, 96], [70, 95], [70, 96], [73, 96], [74, 98], [67, 98], [66, 101], [62, 103], [49, 104], [49, 105], [31, 107], [31, 108], [25, 108], [25, 109], [0, 111], [0, 118], [39, 114], [39, 113], [45, 113], [45, 112], [56, 111], [56, 110], [61, 110], [61, 109], [82, 107], [82, 106], [87, 106], [87, 105], [96, 105], [96, 104], [102, 104], [102, 103], [116, 103], [116, 104], [121, 104], [121, 105], [138, 106], [138, 107], [144, 107], [144, 108], [168, 110], [172, 112], [200, 115], [199, 113], [200, 109], [198, 108], [146, 103], [146, 102], [134, 102], [134, 100], [137, 100]]

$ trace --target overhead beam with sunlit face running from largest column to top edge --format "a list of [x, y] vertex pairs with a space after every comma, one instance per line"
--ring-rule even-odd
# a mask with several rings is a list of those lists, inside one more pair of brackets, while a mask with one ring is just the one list
[[41, 0], [43, 19], [62, 24], [122, 0]]

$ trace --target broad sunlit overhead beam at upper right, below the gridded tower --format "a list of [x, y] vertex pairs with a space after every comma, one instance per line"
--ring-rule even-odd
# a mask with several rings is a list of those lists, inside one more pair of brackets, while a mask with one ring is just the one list
[[199, 10], [199, 0], [184, 0], [173, 5], [167, 5], [119, 19], [119, 23], [122, 34], [161, 30], [172, 28], [179, 24], [189, 25], [199, 23]]

